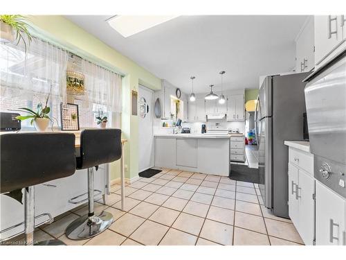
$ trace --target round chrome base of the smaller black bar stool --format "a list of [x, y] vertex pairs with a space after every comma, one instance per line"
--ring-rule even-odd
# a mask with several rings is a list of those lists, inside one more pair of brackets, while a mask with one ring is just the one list
[[73, 240], [90, 239], [104, 230], [113, 222], [113, 215], [102, 211], [99, 216], [80, 216], [66, 227], [66, 236]]

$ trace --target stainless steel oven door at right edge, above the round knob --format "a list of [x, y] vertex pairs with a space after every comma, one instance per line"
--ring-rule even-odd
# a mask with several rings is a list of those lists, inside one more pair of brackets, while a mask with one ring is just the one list
[[345, 55], [310, 80], [304, 90], [311, 153], [341, 164], [346, 164]]

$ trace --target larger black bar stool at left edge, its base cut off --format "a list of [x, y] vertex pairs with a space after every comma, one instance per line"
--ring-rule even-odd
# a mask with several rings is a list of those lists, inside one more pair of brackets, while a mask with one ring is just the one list
[[[0, 146], [0, 193], [26, 188], [24, 223], [9, 227], [6, 231], [24, 224], [26, 245], [33, 245], [35, 185], [75, 173], [75, 135], [54, 132], [4, 134], [1, 135]], [[51, 218], [50, 214], [46, 215]], [[8, 239], [10, 238], [12, 236]], [[64, 243], [51, 240], [40, 242], [39, 245], [64, 245]]]

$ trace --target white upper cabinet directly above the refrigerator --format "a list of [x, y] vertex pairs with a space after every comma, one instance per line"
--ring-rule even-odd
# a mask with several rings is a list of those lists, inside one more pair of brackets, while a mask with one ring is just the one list
[[315, 66], [313, 16], [309, 16], [295, 39], [295, 71], [311, 71]]

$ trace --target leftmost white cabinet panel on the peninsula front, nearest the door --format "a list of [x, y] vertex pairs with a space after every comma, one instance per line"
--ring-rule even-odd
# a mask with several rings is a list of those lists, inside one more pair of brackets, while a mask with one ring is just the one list
[[155, 166], [166, 168], [176, 167], [176, 139], [155, 138]]

